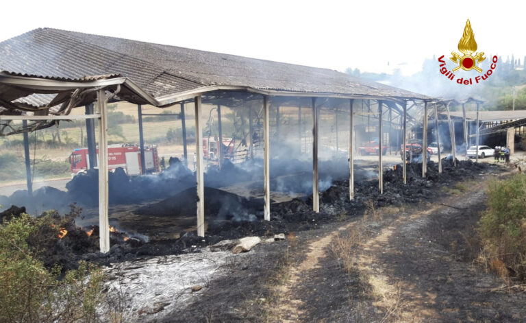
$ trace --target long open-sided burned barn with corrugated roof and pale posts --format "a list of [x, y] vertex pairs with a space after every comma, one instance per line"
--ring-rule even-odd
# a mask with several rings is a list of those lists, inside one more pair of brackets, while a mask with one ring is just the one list
[[[90, 165], [97, 165], [99, 169], [101, 252], [110, 249], [108, 210], [112, 197], [108, 193], [108, 177], [115, 176], [108, 174], [108, 102], [127, 101], [137, 106], [142, 151], [145, 149], [142, 117], [147, 115], [143, 108], [179, 108], [180, 112], [174, 115], [181, 121], [184, 169], [190, 167], [189, 160], [192, 160], [188, 147], [195, 145], [195, 169], [186, 178], [190, 178], [190, 191], [197, 192], [197, 199], [190, 194], [183, 200], [194, 204], [195, 228], [201, 237], [205, 235], [205, 208], [212, 205], [206, 192], [214, 179], [205, 174], [205, 154], [211, 151], [203, 145], [210, 145], [212, 139], [220, 143], [213, 152], [218, 155], [216, 171], [234, 167], [233, 160], [240, 163], [240, 168], [245, 167], [242, 178], [231, 179], [230, 184], [243, 180], [262, 183], [262, 218], [268, 221], [273, 187], [281, 184], [284, 188], [277, 190], [286, 194], [293, 191], [287, 188], [287, 183], [300, 181], [297, 164], [290, 160], [308, 160], [302, 165], [310, 167], [308, 190], [314, 212], [321, 207], [319, 193], [323, 190], [323, 181], [318, 159], [322, 155], [329, 162], [342, 160], [339, 165], [347, 173], [349, 199], [353, 199], [354, 160], [365, 143], [372, 149], [367, 153], [377, 156], [375, 176], [382, 192], [384, 154], [388, 151], [399, 154], [400, 161], [406, 160], [404, 147], [408, 129], [416, 123], [423, 124], [422, 145], [427, 147], [429, 116], [434, 115], [435, 124], [431, 127], [438, 132], [437, 114], [448, 110], [451, 104], [451, 101], [366, 82], [329, 69], [48, 28], [35, 29], [0, 43], [0, 70], [1, 136], [25, 134], [26, 140], [28, 132], [60, 127], [68, 120], [86, 121]], [[204, 133], [208, 116], [203, 115], [203, 105], [214, 107], [218, 136]], [[238, 117], [235, 122], [242, 124], [239, 143], [234, 146], [242, 145], [243, 149], [223, 149], [227, 135], [223, 136], [222, 131], [222, 108], [232, 111]], [[449, 113], [447, 117], [454, 146]], [[95, 136], [95, 121], [98, 121], [98, 136]], [[187, 140], [189, 121], [195, 125], [192, 143]], [[242, 156], [234, 158], [240, 150]], [[426, 176], [426, 149], [423, 154], [422, 176]], [[247, 168], [253, 160], [258, 160], [257, 167]], [[140, 161], [145, 165], [144, 159]], [[283, 167], [275, 171], [278, 167], [273, 168], [271, 163], [281, 163]], [[402, 165], [405, 182], [407, 165]], [[441, 171], [441, 163], [438, 165]], [[333, 164], [327, 164], [327, 169], [334, 168]], [[262, 174], [253, 169], [261, 170]], [[283, 177], [275, 178], [278, 173]], [[254, 174], [258, 178], [254, 178]], [[288, 182], [279, 182], [283, 178]], [[27, 186], [31, 194], [29, 175]], [[216, 188], [224, 186], [225, 182], [215, 185]], [[147, 189], [154, 190], [153, 186]], [[221, 211], [221, 206], [218, 210]]]

